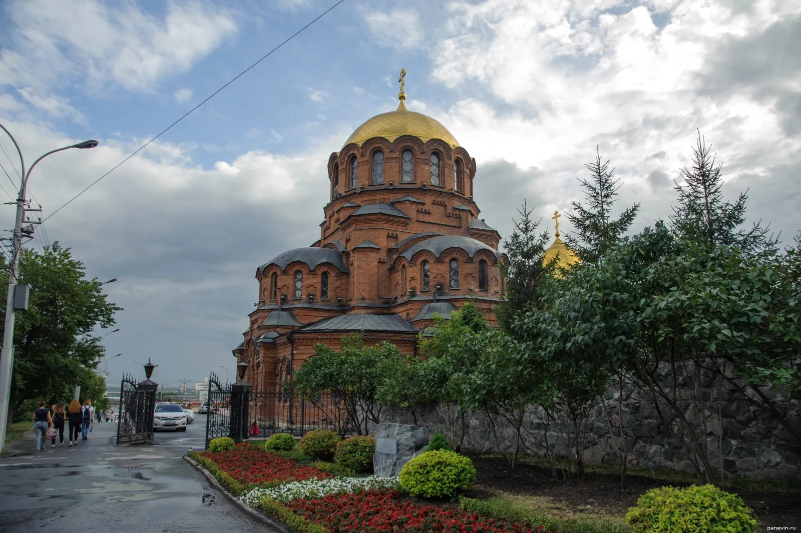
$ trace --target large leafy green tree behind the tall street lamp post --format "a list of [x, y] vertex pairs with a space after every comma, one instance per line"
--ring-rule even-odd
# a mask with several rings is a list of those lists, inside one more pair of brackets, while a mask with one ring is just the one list
[[[94, 328], [112, 326], [121, 309], [107, 301], [97, 279], [86, 279], [83, 262], [58, 242], [42, 253], [22, 250], [19, 267], [19, 283], [31, 290], [28, 311], [18, 312], [14, 325], [10, 419], [26, 399], [64, 402], [76, 385], [91, 387], [87, 370], [103, 356]], [[0, 273], [0, 287], [5, 313], [7, 268]]]

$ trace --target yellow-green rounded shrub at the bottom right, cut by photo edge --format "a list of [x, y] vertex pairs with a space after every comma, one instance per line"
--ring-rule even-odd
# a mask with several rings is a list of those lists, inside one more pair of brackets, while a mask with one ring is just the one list
[[714, 485], [651, 489], [626, 513], [632, 533], [753, 533], [756, 519], [737, 495]]

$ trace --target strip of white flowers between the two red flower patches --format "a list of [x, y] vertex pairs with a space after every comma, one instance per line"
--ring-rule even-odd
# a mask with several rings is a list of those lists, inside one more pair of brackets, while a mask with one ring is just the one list
[[396, 489], [397, 478], [379, 478], [375, 475], [366, 478], [328, 478], [291, 481], [278, 487], [255, 488], [240, 496], [249, 507], [259, 507], [265, 496], [279, 503], [289, 503], [293, 499], [320, 499], [330, 494], [348, 494], [361, 491], [384, 491]]

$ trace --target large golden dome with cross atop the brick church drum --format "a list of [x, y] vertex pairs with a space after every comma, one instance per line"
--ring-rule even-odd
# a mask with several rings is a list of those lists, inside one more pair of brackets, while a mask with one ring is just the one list
[[400, 82], [400, 94], [398, 94], [400, 105], [397, 110], [376, 114], [375, 117], [364, 122], [348, 137], [343, 147], [348, 146], [351, 142], [356, 142], [357, 145], [361, 146], [365, 141], [373, 137], [383, 137], [392, 142], [401, 135], [413, 135], [423, 142], [438, 138], [447, 142], [451, 148], [459, 146], [459, 142], [445, 126], [442, 126], [433, 118], [425, 116], [425, 114], [406, 110], [404, 104], [406, 94], [403, 91], [403, 77], [405, 74], [405, 70], [400, 71], [400, 78], [398, 79]]

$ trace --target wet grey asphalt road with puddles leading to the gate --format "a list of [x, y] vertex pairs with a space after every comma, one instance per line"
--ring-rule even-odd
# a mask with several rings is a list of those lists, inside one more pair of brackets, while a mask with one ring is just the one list
[[186, 432], [156, 433], [152, 445], [111, 446], [111, 423], [95, 423], [77, 448], [10, 443], [15, 455], [0, 459], [0, 532], [272, 533], [183, 459], [190, 446], [203, 449], [205, 428], [196, 415]]

